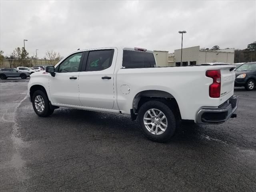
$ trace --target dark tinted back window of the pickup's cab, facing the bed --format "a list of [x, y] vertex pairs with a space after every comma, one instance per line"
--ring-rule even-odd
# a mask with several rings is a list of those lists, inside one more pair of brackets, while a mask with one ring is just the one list
[[151, 68], [156, 66], [153, 53], [129, 51], [123, 52], [123, 68]]

